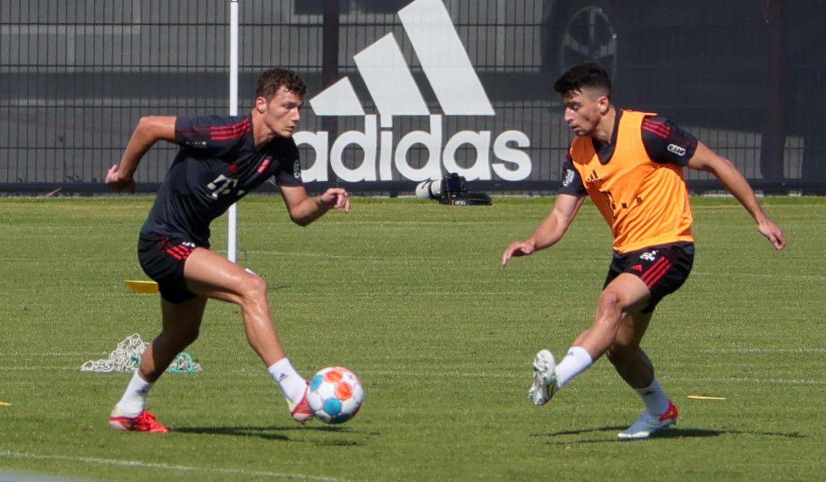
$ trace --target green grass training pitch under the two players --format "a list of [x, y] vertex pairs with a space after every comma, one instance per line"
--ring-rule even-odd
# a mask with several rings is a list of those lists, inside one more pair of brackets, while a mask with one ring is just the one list
[[[643, 347], [681, 411], [643, 442], [642, 410], [597, 361], [548, 405], [525, 395], [541, 347], [590, 324], [610, 261], [591, 204], [557, 246], [500, 267], [553, 198], [490, 207], [354, 198], [307, 228], [276, 196], [239, 209], [239, 262], [269, 282], [293, 364], [344, 365], [366, 399], [349, 423], [293, 423], [247, 346], [239, 310], [211, 302], [149, 408], [177, 431], [113, 432], [129, 376], [80, 373], [131, 333], [159, 331], [136, 235], [150, 197], [0, 199], [0, 472], [81, 480], [823, 480], [826, 199], [767, 198], [776, 252], [736, 201], [694, 198], [697, 254]], [[225, 248], [225, 219], [213, 225]], [[717, 395], [723, 401], [688, 399]]]

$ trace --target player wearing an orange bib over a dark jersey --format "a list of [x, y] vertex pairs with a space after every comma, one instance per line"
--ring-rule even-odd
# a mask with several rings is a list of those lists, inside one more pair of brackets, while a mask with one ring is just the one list
[[775, 248], [783, 248], [786, 239], [729, 160], [665, 117], [617, 109], [610, 100], [610, 78], [601, 66], [574, 66], [553, 89], [562, 96], [564, 119], [576, 135], [563, 163], [562, 188], [534, 233], [505, 249], [502, 266], [510, 258], [557, 243], [585, 196], [591, 197], [614, 234], [614, 257], [593, 324], [558, 364], [548, 350], [536, 354], [528, 398], [536, 405], [547, 403], [605, 354], [646, 407], [617, 437], [647, 438], [677, 417], [639, 344], [657, 303], [691, 272], [693, 218], [682, 169], [714, 174]]

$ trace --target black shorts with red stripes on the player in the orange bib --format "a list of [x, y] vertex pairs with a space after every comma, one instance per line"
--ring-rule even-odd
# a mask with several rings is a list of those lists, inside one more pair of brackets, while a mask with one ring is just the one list
[[694, 243], [689, 242], [649, 246], [628, 253], [614, 252], [602, 289], [621, 273], [638, 276], [651, 291], [651, 300], [642, 311], [651, 313], [665, 295], [682, 286], [693, 262]]

